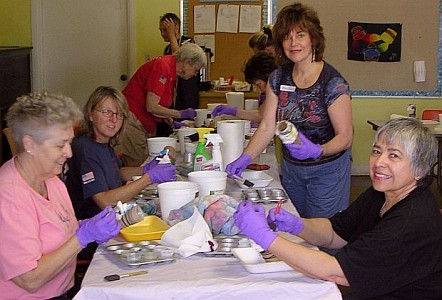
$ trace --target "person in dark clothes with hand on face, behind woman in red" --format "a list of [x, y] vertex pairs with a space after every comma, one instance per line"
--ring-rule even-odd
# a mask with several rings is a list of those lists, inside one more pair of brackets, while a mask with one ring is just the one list
[[[186, 43], [194, 43], [194, 40], [181, 34], [181, 20], [174, 13], [166, 13], [160, 18], [160, 33], [165, 42], [169, 43], [164, 48], [164, 55], [172, 55], [181, 45]], [[178, 77], [176, 95], [173, 108], [177, 110], [193, 108], [197, 109], [199, 106], [199, 73], [195, 76], [184, 79]], [[175, 123], [178, 126], [179, 123]], [[173, 127], [173, 126], [172, 126]], [[172, 128], [169, 122], [159, 122], [157, 124], [157, 136], [169, 136], [172, 133]]]

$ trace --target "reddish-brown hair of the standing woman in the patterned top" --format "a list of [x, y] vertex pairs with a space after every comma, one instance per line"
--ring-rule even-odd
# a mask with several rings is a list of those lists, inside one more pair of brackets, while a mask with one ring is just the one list
[[273, 26], [273, 38], [275, 40], [275, 50], [279, 63], [284, 65], [290, 60], [284, 54], [282, 43], [284, 38], [294, 27], [309, 33], [313, 44], [315, 61], [322, 61], [325, 51], [324, 31], [319, 21], [318, 13], [311, 7], [302, 3], [294, 3], [285, 6], [276, 16]]

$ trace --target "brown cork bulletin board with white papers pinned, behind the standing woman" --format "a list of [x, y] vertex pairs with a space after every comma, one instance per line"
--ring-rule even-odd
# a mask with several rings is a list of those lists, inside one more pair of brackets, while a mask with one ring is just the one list
[[[188, 1], [188, 35], [194, 36], [194, 6], [195, 5], [215, 5], [215, 15], [218, 13], [218, 7], [221, 4], [230, 5], [260, 5], [263, 10], [263, 1], [216, 1], [207, 2], [199, 0]], [[262, 27], [262, 21], [261, 21]], [[210, 79], [216, 80], [219, 77], [229, 78], [233, 75], [236, 80], [244, 81], [242, 69], [245, 62], [253, 55], [252, 49], [249, 48], [249, 39], [253, 33], [226, 33], [213, 32], [204, 33], [215, 35], [215, 62], [210, 66]]]

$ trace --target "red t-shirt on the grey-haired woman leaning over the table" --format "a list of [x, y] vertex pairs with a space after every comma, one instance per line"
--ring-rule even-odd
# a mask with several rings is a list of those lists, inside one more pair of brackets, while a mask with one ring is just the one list
[[163, 55], [142, 65], [123, 90], [129, 109], [140, 120], [148, 133], [154, 133], [156, 123], [162, 119], [146, 111], [147, 92], [160, 97], [160, 105], [171, 107], [176, 75], [176, 58]]

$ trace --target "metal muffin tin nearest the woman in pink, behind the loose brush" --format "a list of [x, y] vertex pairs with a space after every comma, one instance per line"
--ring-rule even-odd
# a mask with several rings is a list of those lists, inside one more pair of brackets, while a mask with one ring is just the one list
[[170, 263], [176, 257], [171, 249], [153, 241], [111, 245], [106, 251], [128, 266]]

